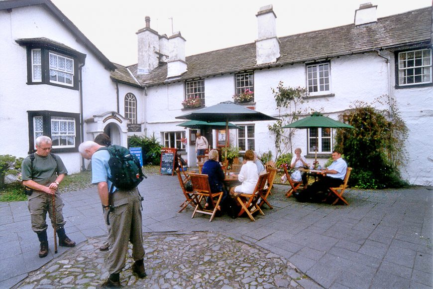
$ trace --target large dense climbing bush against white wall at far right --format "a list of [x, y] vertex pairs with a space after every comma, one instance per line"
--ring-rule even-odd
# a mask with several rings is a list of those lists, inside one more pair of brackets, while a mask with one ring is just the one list
[[354, 130], [338, 130], [336, 148], [353, 167], [350, 183], [358, 188], [386, 188], [407, 185], [399, 168], [405, 162], [404, 143], [408, 136], [406, 124], [394, 103], [389, 110], [378, 110], [375, 103], [384, 104], [382, 96], [372, 104], [357, 101], [349, 112], [340, 115]]

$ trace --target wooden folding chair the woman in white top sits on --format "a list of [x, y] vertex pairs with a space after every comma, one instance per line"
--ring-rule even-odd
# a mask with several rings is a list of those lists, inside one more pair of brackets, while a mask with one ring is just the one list
[[257, 201], [259, 200], [259, 198], [263, 199], [262, 192], [265, 187], [266, 180], [268, 179], [268, 175], [269, 172], [259, 176], [256, 187], [254, 188], [252, 194], [240, 193], [236, 197], [237, 202], [242, 207], [238, 214], [238, 217], [240, 217], [245, 212], [247, 213], [251, 221], [255, 221], [254, 217], [252, 216], [252, 214], [254, 214], [255, 212], [258, 211], [260, 212], [260, 214], [265, 215], [265, 213], [263, 213], [263, 211], [260, 209], [260, 206], [257, 204]]

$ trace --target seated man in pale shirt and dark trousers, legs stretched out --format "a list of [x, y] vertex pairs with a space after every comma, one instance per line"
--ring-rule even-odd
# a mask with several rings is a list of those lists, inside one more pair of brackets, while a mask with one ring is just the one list
[[309, 201], [319, 192], [326, 192], [328, 188], [338, 187], [344, 181], [347, 171], [347, 163], [341, 158], [341, 153], [337, 150], [332, 152], [331, 165], [323, 169], [321, 174], [323, 177], [310, 185], [302, 192], [295, 193], [294, 196], [300, 202]]

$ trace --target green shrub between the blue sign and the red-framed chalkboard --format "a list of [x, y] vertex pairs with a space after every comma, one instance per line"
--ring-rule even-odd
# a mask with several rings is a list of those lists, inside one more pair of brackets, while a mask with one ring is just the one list
[[154, 164], [159, 165], [161, 160], [161, 148], [158, 140], [155, 138], [155, 134], [151, 138], [138, 137], [133, 135], [128, 137], [128, 147], [141, 147], [143, 153], [143, 165]]

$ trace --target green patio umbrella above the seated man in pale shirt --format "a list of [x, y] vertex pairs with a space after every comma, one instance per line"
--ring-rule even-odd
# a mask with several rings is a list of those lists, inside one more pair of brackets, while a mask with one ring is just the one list
[[[285, 125], [281, 128], [282, 129], [311, 129], [311, 128], [354, 129], [354, 127], [348, 124], [325, 117], [319, 112], [314, 112], [309, 117]], [[319, 136], [317, 136], [316, 139], [319, 139]], [[317, 144], [319, 144], [319, 141], [317, 141]], [[317, 146], [316, 146], [316, 162], [317, 162]]]

